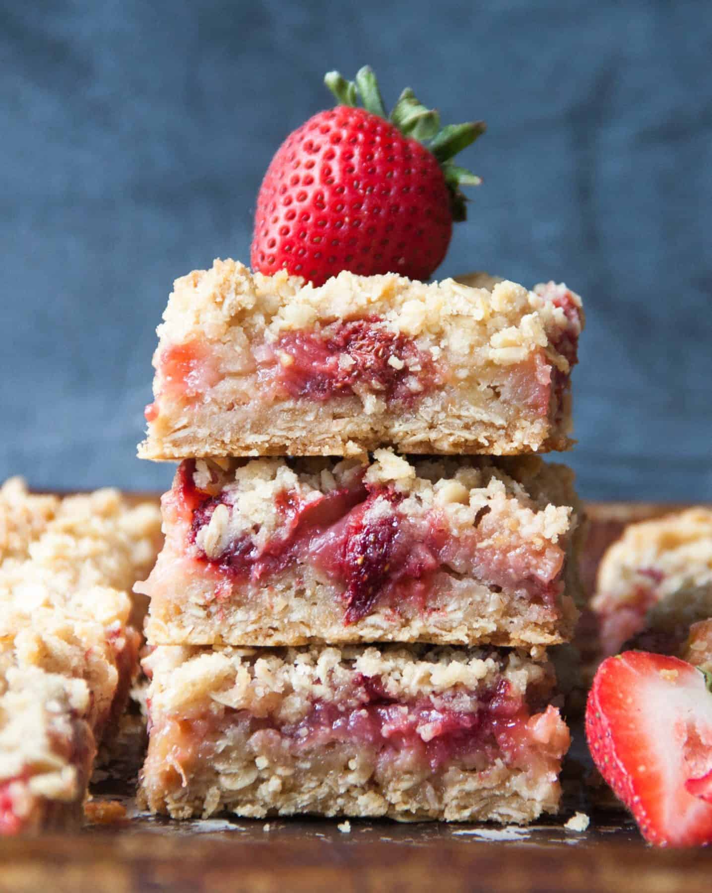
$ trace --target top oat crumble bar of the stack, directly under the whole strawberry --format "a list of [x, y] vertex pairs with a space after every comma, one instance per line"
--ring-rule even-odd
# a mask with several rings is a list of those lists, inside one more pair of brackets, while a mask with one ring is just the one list
[[146, 459], [570, 447], [581, 299], [485, 280], [341, 272], [320, 288], [234, 261], [177, 280]]

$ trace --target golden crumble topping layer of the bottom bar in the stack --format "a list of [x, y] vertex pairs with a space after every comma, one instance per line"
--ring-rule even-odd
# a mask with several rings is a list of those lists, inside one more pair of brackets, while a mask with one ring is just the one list
[[[155, 715], [197, 716], [214, 702], [256, 714], [269, 705], [284, 722], [297, 722], [315, 698], [340, 703], [355, 673], [378, 676], [395, 700], [441, 695], [456, 685], [487, 689], [500, 679], [523, 697], [530, 685], [552, 685], [549, 665], [524, 652], [429, 645], [161, 646], [144, 666]], [[279, 705], [272, 704], [275, 697]]]

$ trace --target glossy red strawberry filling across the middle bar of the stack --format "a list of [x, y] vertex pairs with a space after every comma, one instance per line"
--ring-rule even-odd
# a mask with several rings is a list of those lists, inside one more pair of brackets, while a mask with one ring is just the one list
[[[233, 587], [264, 583], [292, 565], [311, 563], [337, 588], [346, 624], [377, 605], [397, 606], [406, 598], [425, 612], [452, 575], [470, 576], [494, 592], [514, 590], [556, 610], [564, 585], [561, 547], [517, 538], [512, 531], [503, 537], [502, 520], [486, 506], [475, 526], [454, 536], [440, 510], [411, 515], [401, 509], [404, 497], [395, 489], [363, 481], [308, 500], [283, 491], [276, 501], [281, 523], [266, 543], [242, 533], [219, 555], [208, 556], [198, 534], [218, 505], [230, 505], [230, 493], [199, 490], [194, 468], [192, 461], [183, 463], [179, 475], [178, 501], [187, 509], [185, 549], [221, 575], [227, 597]], [[226, 587], [218, 588], [225, 597]]]

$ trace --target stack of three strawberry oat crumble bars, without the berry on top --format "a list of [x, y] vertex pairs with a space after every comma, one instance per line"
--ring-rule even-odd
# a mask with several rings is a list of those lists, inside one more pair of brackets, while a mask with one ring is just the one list
[[232, 261], [177, 280], [139, 455], [181, 463], [141, 797], [177, 818], [556, 812], [581, 301]]

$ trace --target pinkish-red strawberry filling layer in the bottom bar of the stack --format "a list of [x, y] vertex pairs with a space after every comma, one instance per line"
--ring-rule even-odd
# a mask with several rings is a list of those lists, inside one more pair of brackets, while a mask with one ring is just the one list
[[230, 727], [247, 723], [255, 747], [327, 753], [339, 745], [356, 745], [375, 757], [379, 767], [406, 756], [409, 764], [443, 770], [451, 764], [486, 769], [497, 759], [507, 766], [536, 771], [552, 768], [569, 746], [569, 733], [549, 706], [532, 715], [507, 680], [481, 692], [453, 689], [440, 697], [398, 700], [378, 677], [356, 674], [344, 701], [314, 699], [297, 722], [276, 722], [273, 716], [230, 711], [222, 717], [169, 718], [152, 734], [152, 762], [171, 765], [183, 778], [197, 761], [212, 758], [212, 742], [230, 737]]

